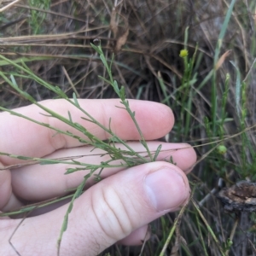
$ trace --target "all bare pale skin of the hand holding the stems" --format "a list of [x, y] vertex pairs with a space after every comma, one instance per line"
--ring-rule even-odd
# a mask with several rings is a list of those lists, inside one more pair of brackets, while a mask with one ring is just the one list
[[[154, 151], [160, 142], [156, 140], [172, 130], [172, 110], [156, 102], [129, 100], [148, 147]], [[41, 102], [44, 106], [84, 125], [102, 140], [109, 137], [96, 125], [81, 119], [79, 110], [62, 100]], [[119, 100], [79, 100], [95, 119], [108, 126], [112, 119], [112, 130], [129, 143], [134, 150], [144, 151], [136, 142], [138, 132], [131, 118], [120, 106]], [[42, 115], [43, 111], [31, 105], [15, 111], [41, 122], [49, 123], [63, 131], [78, 131], [69, 128], [57, 119]], [[58, 158], [64, 156], [90, 155], [90, 146], [81, 146], [72, 137], [55, 135], [55, 131], [34, 124], [26, 119], [0, 113], [0, 152], [30, 157]], [[55, 135], [55, 136], [53, 136]], [[196, 160], [195, 150], [185, 143], [161, 143], [163, 152], [154, 163], [128, 169], [113, 168], [102, 172], [103, 180], [95, 183], [90, 179], [87, 190], [74, 203], [68, 228], [61, 241], [61, 255], [96, 255], [116, 242], [139, 245], [148, 239], [148, 224], [156, 218], [182, 207], [189, 199], [189, 182], [186, 177]], [[177, 148], [179, 148], [177, 150]], [[93, 154], [101, 153], [93, 151]], [[176, 166], [167, 162], [172, 155]], [[105, 156], [104, 160], [107, 160]], [[79, 159], [100, 163], [102, 158], [91, 155]], [[0, 166], [19, 164], [21, 161], [0, 156]], [[44, 201], [55, 196], [66, 195], [83, 180], [85, 171], [63, 175], [67, 165], [22, 166], [0, 171], [0, 210], [2, 212], [23, 206], [25, 201]], [[26, 218], [15, 232], [12, 243], [21, 255], [56, 255], [63, 216], [68, 203], [48, 209], [44, 214], [34, 212]], [[42, 213], [42, 212], [41, 212]], [[20, 219], [0, 218], [0, 255], [17, 255], [9, 245], [9, 237], [20, 223]]]

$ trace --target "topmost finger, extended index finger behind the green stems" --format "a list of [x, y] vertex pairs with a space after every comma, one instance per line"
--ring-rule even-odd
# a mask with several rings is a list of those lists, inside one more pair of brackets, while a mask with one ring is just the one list
[[[129, 103], [131, 110], [136, 113], [135, 118], [145, 139], [154, 140], [165, 136], [166, 133], [171, 131], [174, 117], [170, 108], [157, 102], [129, 100]], [[65, 100], [47, 100], [41, 102], [41, 104], [67, 119], [69, 112], [73, 122], [83, 125], [91, 134], [102, 140], [111, 137], [98, 125], [82, 119], [82, 117], [87, 118], [84, 113]], [[119, 99], [80, 99], [79, 105], [106, 127], [108, 127], [109, 119], [111, 118], [111, 129], [121, 139], [140, 139], [136, 126], [127, 111], [122, 109], [123, 106], [120, 105]], [[116, 106], [122, 108], [116, 108]], [[86, 139], [83, 133], [63, 123], [61, 120], [41, 114], [44, 111], [36, 105], [17, 108], [15, 112], [26, 115], [38, 122], [49, 124], [61, 131], [70, 131], [74, 135]], [[73, 137], [68, 137], [61, 133], [56, 134], [54, 130], [9, 113], [0, 113], [0, 123], [0, 152], [29, 157], [44, 157], [60, 148], [73, 148], [84, 145]], [[4, 156], [0, 156], [0, 161], [3, 165], [20, 162], [20, 160]]]

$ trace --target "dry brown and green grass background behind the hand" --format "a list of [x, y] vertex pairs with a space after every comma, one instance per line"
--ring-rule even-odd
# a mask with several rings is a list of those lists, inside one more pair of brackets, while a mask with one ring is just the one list
[[[179, 215], [165, 255], [256, 255], [255, 212], [224, 212], [215, 196], [218, 186], [256, 182], [256, 3], [27, 0], [3, 9], [9, 3], [0, 6], [3, 56], [24, 61], [67, 96], [116, 97], [98, 78], [107, 72], [90, 47], [98, 38], [107, 59], [115, 54], [113, 79], [127, 98], [172, 108], [176, 125], [165, 139], [195, 146], [198, 164], [189, 175], [194, 201]], [[188, 55], [180, 56], [183, 49]], [[8, 61], [0, 66], [17, 72]], [[16, 83], [38, 101], [56, 97], [36, 80]], [[1, 107], [28, 103], [0, 79]], [[155, 221], [143, 247], [113, 246], [102, 255], [159, 255], [177, 214]]]

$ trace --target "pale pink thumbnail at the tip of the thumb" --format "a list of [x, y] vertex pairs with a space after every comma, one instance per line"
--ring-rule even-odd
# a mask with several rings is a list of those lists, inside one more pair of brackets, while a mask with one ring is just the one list
[[150, 172], [144, 182], [148, 197], [158, 211], [175, 210], [189, 197], [189, 185], [177, 171], [167, 167]]

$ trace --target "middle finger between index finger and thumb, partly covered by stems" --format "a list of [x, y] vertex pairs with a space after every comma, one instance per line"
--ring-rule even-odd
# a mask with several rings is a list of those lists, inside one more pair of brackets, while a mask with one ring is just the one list
[[[189, 168], [194, 165], [196, 160], [195, 150], [189, 146], [189, 144], [183, 143], [160, 143], [160, 142], [148, 142], [148, 148], [151, 152], [154, 152], [159, 145], [162, 145], [161, 152], [157, 157], [157, 160], [170, 160], [172, 156], [173, 162], [184, 172], [189, 172]], [[129, 143], [131, 148], [137, 152], [144, 152], [145, 148], [138, 142]], [[122, 145], [116, 143], [117, 148], [124, 149]], [[76, 161], [87, 163], [90, 165], [99, 165], [101, 162], [110, 160], [109, 155], [105, 154], [101, 149], [94, 149], [92, 147], [79, 147], [79, 148], [67, 148], [55, 151], [53, 154], [49, 154], [47, 159], [63, 158], [70, 156], [83, 155]], [[145, 153], [142, 155], [146, 155]], [[70, 162], [71, 160], [69, 160]], [[114, 160], [110, 165], [119, 165], [119, 167], [105, 168], [101, 177], [105, 178], [113, 175], [116, 172], [125, 170], [126, 166], [120, 166], [124, 162], [121, 160]], [[67, 194], [68, 190], [76, 188], [79, 183], [84, 179], [84, 176], [90, 172], [90, 170], [73, 172], [64, 175], [67, 172], [67, 168], [74, 168], [76, 166], [70, 164], [55, 164], [55, 165], [32, 165], [22, 166], [20, 168], [12, 170], [12, 186], [15, 195], [20, 198], [29, 201], [43, 201], [48, 200], [55, 196], [61, 196]], [[81, 166], [77, 166], [81, 167]], [[100, 172], [98, 169], [94, 174]], [[92, 175], [86, 182], [86, 188], [96, 183]]]

